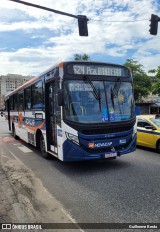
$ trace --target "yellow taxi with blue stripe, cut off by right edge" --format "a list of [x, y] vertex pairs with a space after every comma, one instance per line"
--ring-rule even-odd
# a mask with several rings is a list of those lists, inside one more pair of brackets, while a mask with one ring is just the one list
[[137, 145], [154, 148], [160, 153], [160, 115], [137, 116]]

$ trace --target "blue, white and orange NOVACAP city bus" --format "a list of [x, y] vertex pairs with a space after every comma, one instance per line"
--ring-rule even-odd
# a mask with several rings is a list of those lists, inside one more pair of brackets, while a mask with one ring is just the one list
[[116, 158], [136, 149], [133, 80], [122, 65], [66, 61], [5, 96], [9, 130], [61, 161]]

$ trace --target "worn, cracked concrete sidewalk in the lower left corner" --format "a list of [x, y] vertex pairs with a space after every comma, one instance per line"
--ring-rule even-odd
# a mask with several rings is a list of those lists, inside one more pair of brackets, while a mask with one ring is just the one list
[[[1, 118], [0, 123], [3, 119]], [[0, 125], [1, 126], [1, 125]], [[8, 146], [12, 140], [5, 130], [0, 131], [0, 223], [68, 224], [73, 229], [65, 232], [83, 231], [76, 226], [72, 216], [43, 186], [40, 179], [30, 170]], [[10, 147], [10, 148], [9, 148]], [[0, 228], [1, 229], [1, 228]], [[47, 229], [5, 229], [6, 232], [48, 231]], [[50, 229], [63, 232], [64, 229]]]

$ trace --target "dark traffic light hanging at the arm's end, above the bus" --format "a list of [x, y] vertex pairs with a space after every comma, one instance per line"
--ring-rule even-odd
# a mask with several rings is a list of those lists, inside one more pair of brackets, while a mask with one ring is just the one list
[[88, 18], [85, 15], [78, 15], [78, 27], [80, 36], [88, 36]]

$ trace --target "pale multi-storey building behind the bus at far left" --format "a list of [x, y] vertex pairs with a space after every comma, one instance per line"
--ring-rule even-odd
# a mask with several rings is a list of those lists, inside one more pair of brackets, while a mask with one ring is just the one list
[[4, 109], [4, 96], [23, 85], [33, 76], [22, 76], [18, 74], [7, 74], [0, 76], [0, 109]]

